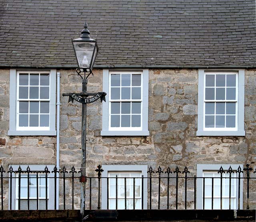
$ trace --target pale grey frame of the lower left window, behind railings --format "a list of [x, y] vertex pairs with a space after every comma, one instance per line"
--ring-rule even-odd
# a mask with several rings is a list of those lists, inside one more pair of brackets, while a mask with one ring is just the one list
[[[21, 169], [24, 171], [26, 170], [26, 168], [29, 166], [31, 171], [40, 171], [42, 172], [42, 174], [44, 174], [44, 168], [45, 165], [12, 165], [13, 171], [16, 172], [18, 171], [19, 166], [21, 167]], [[9, 166], [10, 167], [10, 166]], [[50, 171], [50, 173], [48, 173], [48, 177], [52, 177], [52, 178], [48, 178], [48, 210], [54, 210], [54, 174], [52, 173], [52, 171], [54, 170], [54, 165], [47, 165], [48, 170]], [[10, 180], [12, 180], [12, 210], [18, 210], [18, 201], [16, 201], [16, 197], [18, 195], [18, 182], [17, 179], [15, 178], [16, 176], [14, 176], [15, 174], [12, 174], [12, 178], [9, 178], [9, 184], [10, 184]], [[24, 175], [27, 175], [26, 173]], [[10, 176], [10, 173], [9, 173]], [[9, 194], [8, 194], [8, 210], [10, 210], [10, 186], [9, 186]], [[33, 198], [32, 198], [33, 199]], [[30, 199], [30, 200], [32, 200]], [[39, 198], [39, 200], [45, 200], [45, 198]], [[22, 200], [22, 198], [21, 198]], [[56, 203], [58, 206], [58, 202]], [[57, 208], [58, 209], [58, 208]]]

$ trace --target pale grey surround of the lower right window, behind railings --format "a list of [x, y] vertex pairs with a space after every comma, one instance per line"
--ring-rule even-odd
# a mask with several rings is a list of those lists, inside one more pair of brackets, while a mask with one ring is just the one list
[[[231, 166], [234, 174], [236, 170], [240, 166], [243, 169], [243, 164], [197, 164], [196, 166], [196, 177], [203, 177], [203, 172], [218, 172], [220, 167], [222, 166], [223, 170], [226, 172], [228, 168]], [[241, 178], [243, 177], [243, 173], [240, 174]], [[238, 209], [238, 179], [236, 179], [236, 208]], [[203, 179], [198, 178], [196, 180], [196, 209], [203, 209]], [[237, 210], [236, 209], [236, 210]], [[243, 180], [240, 183], [240, 209], [243, 209]]]

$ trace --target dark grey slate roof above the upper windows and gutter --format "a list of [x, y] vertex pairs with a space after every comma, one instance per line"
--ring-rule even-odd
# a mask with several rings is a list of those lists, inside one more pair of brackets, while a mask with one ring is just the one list
[[2, 0], [0, 65], [76, 66], [84, 21], [96, 65], [256, 65], [255, 0]]

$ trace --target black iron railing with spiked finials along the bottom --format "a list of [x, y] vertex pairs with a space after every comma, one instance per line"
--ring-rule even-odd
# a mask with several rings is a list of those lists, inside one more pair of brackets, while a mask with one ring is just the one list
[[[255, 192], [256, 185], [253, 183], [256, 177], [252, 177], [256, 173], [250, 167], [249, 164], [246, 164], [246, 167], [243, 169], [238, 167], [237, 170], [233, 170], [230, 168], [226, 171], [228, 176], [223, 176], [225, 173], [223, 168], [220, 167], [218, 170], [218, 174], [220, 177], [197, 177], [195, 174], [190, 173], [188, 168], [185, 167], [181, 172], [178, 166], [172, 172], [170, 167], [163, 171], [159, 166], [158, 169], [154, 172], [152, 167], [148, 169], [148, 175], [141, 175], [137, 177], [118, 177], [117, 175], [113, 177], [102, 177], [102, 169], [101, 165], [97, 166], [95, 170], [97, 172], [96, 177], [87, 177], [86, 181], [86, 204], [85, 210], [92, 209], [101, 209], [101, 202], [103, 200], [106, 201], [106, 209], [112, 209], [113, 206], [110, 207], [110, 182], [112, 186], [114, 186], [114, 198], [112, 192], [112, 200], [114, 200], [114, 209], [196, 209], [197, 208], [197, 192], [198, 184], [202, 184], [202, 190], [199, 190], [200, 195], [202, 195], [202, 209], [206, 207], [206, 199], [210, 199], [210, 209], [214, 209], [214, 201], [219, 199], [220, 201], [220, 209], [223, 209], [222, 206], [223, 200], [228, 201], [228, 209], [231, 209], [231, 199], [232, 199], [232, 180], [236, 181], [237, 184], [237, 192], [236, 192], [236, 209], [240, 209], [240, 203], [244, 203], [246, 209], [249, 209], [250, 206], [254, 206], [256, 200], [250, 200], [250, 188]], [[236, 173], [236, 176], [234, 173]], [[244, 173], [244, 174], [243, 174]], [[245, 175], [245, 176], [244, 176]], [[1, 210], [9, 209], [9, 210], [22, 210], [24, 206], [27, 209], [32, 209], [31, 202], [36, 202], [36, 207], [33, 209], [49, 209], [49, 205], [51, 209], [57, 209], [57, 206], [60, 206], [60, 209], [80, 209], [80, 177], [81, 171], [76, 171], [74, 166], [70, 171], [67, 171], [65, 167], [61, 170], [58, 170], [56, 166], [54, 170], [50, 172], [48, 167], [44, 168], [44, 171], [31, 171], [28, 166], [26, 170], [22, 170], [21, 167], [18, 168], [17, 171], [14, 171], [12, 166], [6, 172], [4, 168], [0, 167], [0, 186], [1, 186]], [[60, 180], [60, 200], [57, 203], [57, 179]], [[27, 186], [22, 187], [22, 180], [26, 180]], [[31, 180], [34, 181], [34, 198], [31, 197]], [[39, 180], [42, 180], [44, 185], [41, 186]], [[122, 180], [122, 184], [120, 181]], [[130, 181], [129, 189], [127, 185], [127, 181]], [[214, 192], [216, 191], [216, 187], [214, 186], [214, 181], [220, 181], [220, 190], [217, 190], [220, 193], [220, 196], [216, 197]], [[113, 181], [114, 184], [113, 184]], [[132, 181], [132, 182], [131, 182]], [[146, 187], [145, 182], [146, 181]], [[206, 198], [206, 181], [211, 181], [211, 196]], [[228, 186], [228, 196], [223, 194], [223, 182], [226, 181]], [[136, 206], [136, 186], [138, 188], [139, 182], [139, 198], [140, 206]], [[53, 186], [49, 186], [49, 183], [52, 183]], [[15, 185], [14, 185], [15, 184]], [[29, 186], [28, 186], [29, 184]], [[209, 184], [208, 184], [209, 185]], [[15, 186], [15, 187], [14, 187]], [[102, 188], [105, 186], [107, 190], [106, 193], [101, 193]], [[120, 188], [122, 189], [120, 190]], [[26, 196], [24, 194], [21, 195], [22, 191], [24, 192], [26, 189]], [[54, 190], [54, 192], [53, 192]], [[145, 191], [146, 195], [144, 195]], [[43, 197], [40, 196], [40, 192], [43, 192]], [[49, 192], [54, 193], [53, 197], [49, 197]], [[122, 192], [122, 193], [121, 193]], [[225, 193], [227, 190], [225, 190]], [[242, 198], [241, 194], [244, 196]], [[234, 194], [233, 194], [234, 195]], [[129, 197], [128, 197], [129, 196]], [[189, 196], [189, 197], [188, 197]], [[28, 198], [29, 197], [29, 198]], [[51, 199], [52, 202], [49, 202]], [[118, 201], [122, 199], [124, 201], [124, 206], [118, 206]], [[128, 199], [132, 204], [128, 206]], [[40, 201], [43, 201], [44, 207], [40, 204]], [[146, 200], [146, 202], [145, 202]], [[13, 204], [15, 201], [15, 207]], [[24, 201], [26, 204], [24, 205]], [[67, 202], [68, 201], [68, 202]], [[21, 203], [23, 207], [21, 207]], [[145, 204], [146, 203], [146, 204]], [[146, 206], [147, 205], [147, 206]]]

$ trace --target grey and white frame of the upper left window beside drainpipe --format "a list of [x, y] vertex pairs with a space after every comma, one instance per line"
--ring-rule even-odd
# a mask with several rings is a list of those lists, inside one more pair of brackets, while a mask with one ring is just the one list
[[[18, 73], [50, 73], [49, 101], [50, 101], [50, 119], [49, 127], [18, 127]], [[56, 69], [51, 70], [28, 70], [28, 69], [10, 69], [10, 121], [8, 136], [56, 136]]]

